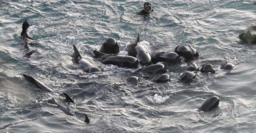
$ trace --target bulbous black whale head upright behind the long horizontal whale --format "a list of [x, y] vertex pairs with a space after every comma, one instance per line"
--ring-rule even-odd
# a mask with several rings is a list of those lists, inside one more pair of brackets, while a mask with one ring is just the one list
[[120, 52], [118, 42], [114, 38], [108, 38], [100, 47], [100, 52], [107, 54], [117, 54]]

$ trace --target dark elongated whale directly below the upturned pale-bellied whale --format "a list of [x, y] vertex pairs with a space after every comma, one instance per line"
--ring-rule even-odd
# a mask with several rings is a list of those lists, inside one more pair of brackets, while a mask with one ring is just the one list
[[149, 74], [156, 74], [156, 73], [166, 73], [166, 67], [164, 64], [152, 64], [150, 66], [143, 67], [142, 69], [138, 70], [142, 73], [149, 73]]

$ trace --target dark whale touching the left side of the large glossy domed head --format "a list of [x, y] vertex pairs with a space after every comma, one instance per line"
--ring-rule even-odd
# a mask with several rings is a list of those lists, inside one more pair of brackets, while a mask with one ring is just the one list
[[152, 56], [152, 62], [168, 62], [177, 63], [181, 61], [181, 57], [175, 52], [159, 52]]

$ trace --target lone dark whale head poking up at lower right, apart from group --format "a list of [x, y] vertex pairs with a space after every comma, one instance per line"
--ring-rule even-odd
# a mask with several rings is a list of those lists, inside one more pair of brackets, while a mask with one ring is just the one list
[[205, 103], [202, 104], [202, 106], [199, 108], [199, 111], [211, 111], [214, 108], [218, 107], [219, 103], [220, 99], [217, 96], [212, 96], [207, 99]]

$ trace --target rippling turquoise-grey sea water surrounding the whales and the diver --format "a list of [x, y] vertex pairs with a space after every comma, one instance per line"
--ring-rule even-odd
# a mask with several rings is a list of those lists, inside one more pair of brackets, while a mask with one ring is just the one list
[[[136, 15], [145, 1], [134, 0], [1, 0], [0, 1], [0, 131], [1, 132], [256, 132], [256, 47], [238, 35], [255, 24], [253, 0], [153, 0], [150, 18]], [[31, 58], [24, 56], [22, 23], [31, 25]], [[173, 52], [189, 43], [199, 52], [192, 62], [168, 65], [171, 81], [150, 81], [155, 75], [104, 65], [92, 51], [113, 37], [120, 54], [136, 39], [151, 54]], [[72, 44], [94, 60], [101, 73], [84, 73], [72, 62]], [[233, 71], [220, 69], [224, 62]], [[177, 70], [190, 63], [213, 64], [216, 74], [196, 73], [180, 82]], [[29, 74], [52, 88], [45, 94], [21, 75]], [[138, 86], [126, 79], [138, 76]], [[48, 104], [66, 92], [75, 104], [63, 106], [84, 119], [64, 114]], [[198, 112], [210, 96], [219, 107]], [[162, 97], [162, 98], [161, 98]]]

